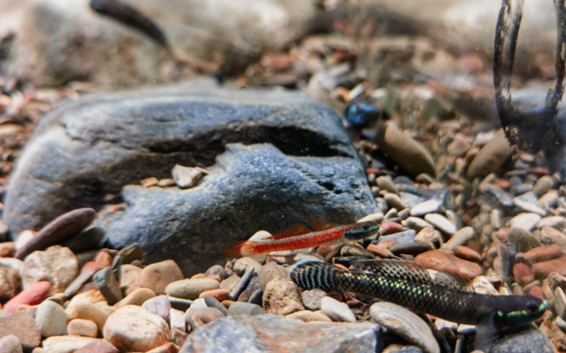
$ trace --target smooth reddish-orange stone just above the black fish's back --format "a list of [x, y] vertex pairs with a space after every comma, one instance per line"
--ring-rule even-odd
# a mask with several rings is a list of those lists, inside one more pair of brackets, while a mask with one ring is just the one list
[[445, 250], [423, 252], [415, 257], [415, 262], [422, 267], [457, 274], [466, 280], [471, 280], [482, 273], [482, 268], [477, 263], [457, 258]]

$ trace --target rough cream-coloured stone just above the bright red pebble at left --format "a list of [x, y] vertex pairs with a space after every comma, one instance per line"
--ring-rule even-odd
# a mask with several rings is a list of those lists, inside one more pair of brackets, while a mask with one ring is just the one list
[[79, 274], [79, 263], [68, 247], [50, 246], [29, 254], [20, 268], [23, 289], [40, 281], [51, 283], [50, 294], [63, 293]]

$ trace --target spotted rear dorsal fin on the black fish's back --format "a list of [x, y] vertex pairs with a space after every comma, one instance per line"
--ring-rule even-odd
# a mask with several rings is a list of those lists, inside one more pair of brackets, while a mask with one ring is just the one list
[[404, 260], [363, 260], [352, 264], [352, 271], [375, 273], [378, 276], [434, 284], [426, 268]]

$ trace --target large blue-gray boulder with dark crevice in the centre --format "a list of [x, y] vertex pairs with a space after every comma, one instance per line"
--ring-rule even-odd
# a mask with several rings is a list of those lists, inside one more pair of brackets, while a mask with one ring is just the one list
[[[210, 173], [194, 188], [140, 185], [197, 163]], [[5, 205], [12, 235], [93, 207], [111, 246], [139, 242], [150, 261], [174, 259], [186, 273], [257, 230], [276, 232], [302, 215], [351, 223], [375, 210], [330, 107], [287, 91], [194, 82], [56, 108], [20, 155]]]

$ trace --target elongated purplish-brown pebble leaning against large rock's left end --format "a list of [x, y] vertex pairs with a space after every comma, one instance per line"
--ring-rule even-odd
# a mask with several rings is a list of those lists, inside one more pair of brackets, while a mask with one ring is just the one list
[[92, 208], [78, 208], [55, 218], [45, 225], [14, 257], [22, 260], [36, 250], [43, 250], [50, 245], [73, 236], [86, 228], [95, 219], [96, 211]]

